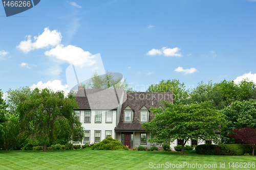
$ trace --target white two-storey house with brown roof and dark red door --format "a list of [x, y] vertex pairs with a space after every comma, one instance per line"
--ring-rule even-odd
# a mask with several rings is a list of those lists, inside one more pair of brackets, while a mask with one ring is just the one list
[[[129, 148], [139, 145], [150, 148], [161, 147], [162, 143], [150, 143], [150, 133], [141, 127], [142, 123], [154, 117], [149, 109], [157, 108], [160, 101], [173, 103], [173, 92], [125, 92], [123, 89], [83, 89], [78, 87], [76, 117], [82, 123], [84, 138], [82, 143], [100, 142], [106, 137], [121, 141]], [[175, 140], [170, 147], [179, 143]], [[198, 145], [210, 141], [189, 140], [188, 145]]]

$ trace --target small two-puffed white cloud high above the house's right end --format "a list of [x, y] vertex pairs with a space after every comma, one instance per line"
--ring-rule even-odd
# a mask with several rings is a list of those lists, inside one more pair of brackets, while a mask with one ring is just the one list
[[182, 57], [180, 53], [180, 48], [175, 47], [175, 48], [167, 48], [167, 47], [162, 47], [161, 50], [157, 50], [153, 48], [152, 50], [148, 51], [146, 55], [150, 56], [155, 56], [155, 55], [164, 55], [167, 57]]

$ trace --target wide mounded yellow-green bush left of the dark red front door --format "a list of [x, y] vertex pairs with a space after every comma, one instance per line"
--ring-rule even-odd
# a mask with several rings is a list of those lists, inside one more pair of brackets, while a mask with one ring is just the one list
[[129, 148], [125, 147], [122, 142], [108, 137], [103, 139], [101, 142], [95, 143], [92, 146], [92, 150], [119, 150], [123, 149], [129, 151]]

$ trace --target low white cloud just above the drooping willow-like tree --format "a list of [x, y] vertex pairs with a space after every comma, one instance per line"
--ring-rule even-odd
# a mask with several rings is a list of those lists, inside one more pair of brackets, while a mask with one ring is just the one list
[[66, 95], [69, 93], [68, 85], [62, 85], [60, 80], [48, 81], [47, 83], [42, 83], [40, 81], [37, 84], [33, 84], [30, 88], [35, 89], [36, 87], [39, 89], [50, 88], [55, 92], [58, 90], [63, 90]]

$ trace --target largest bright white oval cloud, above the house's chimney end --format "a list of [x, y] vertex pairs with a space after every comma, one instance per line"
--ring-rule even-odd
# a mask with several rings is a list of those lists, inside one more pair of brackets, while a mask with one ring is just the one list
[[45, 55], [80, 66], [83, 66], [83, 64], [92, 65], [96, 62], [93, 60], [94, 56], [90, 52], [83, 51], [82, 48], [74, 45], [64, 46], [59, 44], [50, 51], [45, 52]]

